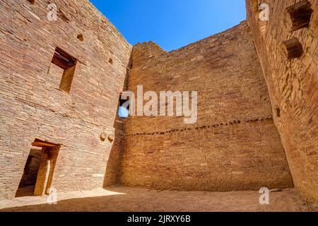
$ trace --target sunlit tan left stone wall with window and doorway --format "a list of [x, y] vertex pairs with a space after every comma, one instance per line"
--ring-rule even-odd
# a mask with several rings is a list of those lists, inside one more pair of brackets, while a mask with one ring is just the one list
[[[0, 199], [16, 193], [35, 138], [61, 145], [57, 191], [101, 187], [118, 150], [100, 133], [114, 133], [131, 46], [88, 1], [54, 3], [57, 21], [47, 1], [0, 1]], [[78, 59], [69, 93], [51, 64], [56, 47]]]

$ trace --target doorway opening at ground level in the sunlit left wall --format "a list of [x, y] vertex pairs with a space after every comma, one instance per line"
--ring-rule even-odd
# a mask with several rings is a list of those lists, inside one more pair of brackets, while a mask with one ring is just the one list
[[48, 194], [60, 147], [59, 144], [35, 139], [25, 162], [16, 198]]

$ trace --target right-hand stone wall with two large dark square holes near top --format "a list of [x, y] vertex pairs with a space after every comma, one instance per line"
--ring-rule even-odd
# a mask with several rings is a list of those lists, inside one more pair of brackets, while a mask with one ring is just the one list
[[[261, 2], [269, 4], [269, 21], [259, 20], [259, 1], [256, 0], [247, 1], [247, 20], [269, 87], [273, 110], [277, 112], [274, 121], [295, 187], [318, 201], [318, 1], [307, 2], [312, 8], [312, 16], [308, 18], [306, 9], [298, 10], [300, 5], [294, 6], [300, 1]], [[304, 3], [302, 1], [301, 4]], [[289, 10], [287, 7], [290, 7]], [[291, 18], [295, 18], [294, 24]], [[299, 22], [306, 18], [309, 25], [299, 27]], [[301, 24], [306, 25], [305, 22]], [[303, 52], [288, 59], [283, 42], [293, 37], [300, 45], [294, 50], [302, 49]]]

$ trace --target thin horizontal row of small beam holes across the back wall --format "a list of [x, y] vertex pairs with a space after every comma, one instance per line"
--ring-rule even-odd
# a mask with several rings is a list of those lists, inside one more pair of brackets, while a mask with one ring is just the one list
[[[265, 117], [265, 118], [261, 118], [261, 119], [249, 119], [246, 120], [246, 123], [252, 123], [252, 122], [257, 122], [257, 121], [264, 121], [266, 119], [273, 119], [273, 117], [269, 116], [269, 117]], [[191, 131], [191, 130], [199, 130], [199, 129], [209, 129], [209, 128], [217, 128], [220, 126], [228, 126], [228, 125], [235, 125], [235, 124], [241, 124], [242, 121], [238, 120], [238, 121], [230, 121], [229, 123], [221, 123], [221, 124], [214, 124], [214, 125], [208, 125], [208, 126], [198, 126], [195, 128], [187, 128], [187, 129], [172, 129], [170, 131], [165, 131], [165, 132], [154, 132], [154, 133], [134, 133], [134, 134], [128, 134], [127, 136], [146, 136], [146, 135], [164, 135], [166, 133], [175, 133], [175, 132], [183, 132], [183, 131]]]

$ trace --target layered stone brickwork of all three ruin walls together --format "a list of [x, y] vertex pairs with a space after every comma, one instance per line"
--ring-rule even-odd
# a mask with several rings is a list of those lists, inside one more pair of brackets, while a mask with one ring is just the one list
[[[317, 3], [247, 0], [247, 23], [165, 52], [153, 42], [133, 49], [87, 0], [54, 0], [57, 21], [47, 1], [0, 0], [0, 200], [37, 172], [37, 195], [295, 182], [318, 201]], [[119, 95], [137, 85], [198, 91], [196, 123], [120, 119]]]

